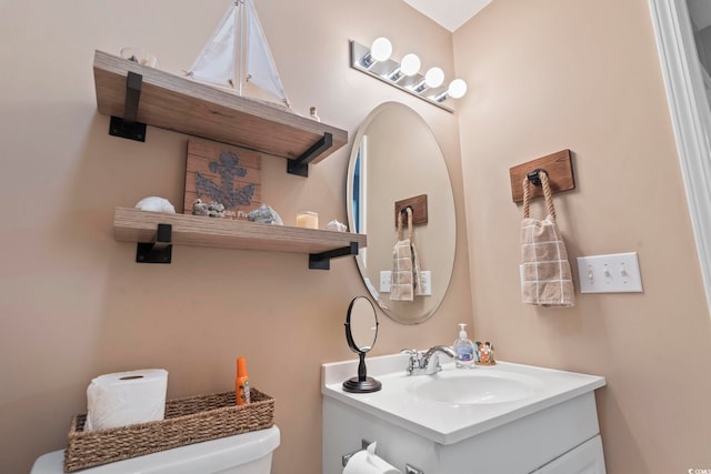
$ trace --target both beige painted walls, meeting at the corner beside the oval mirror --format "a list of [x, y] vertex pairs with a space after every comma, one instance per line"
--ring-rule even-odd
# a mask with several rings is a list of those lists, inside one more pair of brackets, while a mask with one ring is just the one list
[[[93, 50], [143, 46], [179, 72], [224, 3], [0, 6], [0, 472], [27, 472], [63, 446], [92, 376], [161, 366], [171, 397], [229, 390], [237, 355], [277, 399], [274, 472], [320, 471], [319, 365], [352, 357], [344, 310], [365, 294], [352, 260], [319, 272], [303, 255], [177, 248], [171, 265], [138, 265], [134, 245], [111, 236], [117, 205], [150, 194], [181, 202], [187, 137], [109, 137]], [[473, 306], [474, 336], [494, 341], [501, 359], [607, 377], [598, 405], [608, 472], [711, 468], [711, 327], [647, 1], [497, 0], [453, 36], [443, 62], [452, 36], [400, 2], [259, 0], [258, 10], [297, 111], [317, 105], [352, 139], [371, 109], [402, 101], [447, 159], [459, 223], [452, 285], [422, 325], [381, 314], [373, 353], [450, 342]], [[428, 65], [457, 62], [470, 85], [458, 115], [348, 67], [348, 40], [380, 34], [397, 58], [411, 49]], [[571, 261], [637, 251], [643, 294], [578, 294], [559, 311], [519, 302], [521, 209], [508, 169], [565, 148], [578, 189], [555, 204]], [[266, 159], [264, 200], [287, 221], [303, 209], [344, 221], [349, 151], [308, 180]]]

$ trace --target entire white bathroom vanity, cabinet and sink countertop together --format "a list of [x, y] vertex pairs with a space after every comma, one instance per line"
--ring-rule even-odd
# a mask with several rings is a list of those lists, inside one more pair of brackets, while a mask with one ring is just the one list
[[363, 440], [401, 470], [604, 474], [593, 393], [603, 377], [505, 362], [410, 376], [408, 360], [368, 357], [382, 390], [362, 394], [342, 389], [358, 361], [322, 365], [323, 474], [343, 472], [341, 456]]

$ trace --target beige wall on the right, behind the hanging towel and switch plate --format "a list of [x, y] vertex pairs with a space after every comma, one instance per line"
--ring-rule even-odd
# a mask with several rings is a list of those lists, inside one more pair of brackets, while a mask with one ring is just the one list
[[[459, 118], [475, 333], [501, 359], [605, 376], [610, 474], [711, 468], [711, 321], [648, 1], [495, 0], [454, 51], [471, 90]], [[508, 170], [563, 149], [577, 190], [555, 206], [574, 273], [577, 256], [638, 252], [643, 294], [520, 303]]]

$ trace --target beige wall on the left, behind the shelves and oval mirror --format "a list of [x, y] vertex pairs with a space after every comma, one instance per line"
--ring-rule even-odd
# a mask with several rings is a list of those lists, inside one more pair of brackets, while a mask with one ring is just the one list
[[[353, 259], [329, 272], [307, 256], [176, 248], [171, 265], [139, 265], [112, 239], [113, 209], [147, 195], [182, 202], [187, 137], [149, 128], [146, 143], [109, 137], [99, 115], [93, 50], [154, 52], [162, 69], [190, 67], [228, 2], [81, 0], [0, 6], [0, 472], [26, 473], [63, 447], [91, 377], [148, 366], [170, 372], [169, 396], [231, 389], [234, 357], [277, 400], [274, 473], [321, 466], [320, 364], [353, 359], [343, 336], [350, 300], [367, 294]], [[453, 69], [452, 37], [402, 2], [259, 0], [260, 18], [296, 111], [317, 105], [354, 137], [369, 111], [402, 101], [431, 124], [452, 174], [457, 262], [441, 312], [402, 326], [381, 316], [373, 354], [450, 343], [471, 321], [457, 117], [349, 68], [348, 40], [388, 34], [394, 56]], [[374, 12], [374, 13], [373, 13]], [[398, 21], [393, 22], [392, 19]], [[262, 195], [287, 222], [304, 209], [346, 221], [350, 145], [288, 175], [263, 160]]]

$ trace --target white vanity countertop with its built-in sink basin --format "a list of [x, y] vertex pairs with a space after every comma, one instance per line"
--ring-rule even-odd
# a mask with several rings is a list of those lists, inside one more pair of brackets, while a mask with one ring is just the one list
[[408, 375], [408, 359], [368, 357], [368, 375], [382, 390], [364, 394], [342, 389], [358, 373], [358, 361], [323, 364], [321, 393], [448, 445], [604, 385], [601, 376], [507, 362], [474, 369], [445, 363], [434, 375]]

